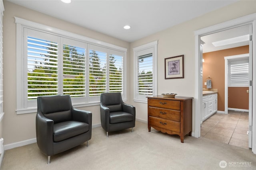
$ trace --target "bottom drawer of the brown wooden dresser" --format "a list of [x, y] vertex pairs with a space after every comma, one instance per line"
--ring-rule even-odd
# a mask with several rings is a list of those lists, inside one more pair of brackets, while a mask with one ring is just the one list
[[150, 125], [180, 133], [180, 123], [149, 116]]

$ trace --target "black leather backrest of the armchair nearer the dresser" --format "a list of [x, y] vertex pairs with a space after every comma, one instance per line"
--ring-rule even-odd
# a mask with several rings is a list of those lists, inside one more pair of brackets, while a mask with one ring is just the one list
[[110, 109], [110, 112], [122, 111], [121, 93], [102, 93], [100, 94], [100, 103]]

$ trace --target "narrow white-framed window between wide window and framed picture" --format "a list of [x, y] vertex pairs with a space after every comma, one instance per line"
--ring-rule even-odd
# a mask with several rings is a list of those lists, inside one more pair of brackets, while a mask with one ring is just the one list
[[157, 41], [135, 47], [134, 102], [147, 102], [147, 96], [157, 95]]

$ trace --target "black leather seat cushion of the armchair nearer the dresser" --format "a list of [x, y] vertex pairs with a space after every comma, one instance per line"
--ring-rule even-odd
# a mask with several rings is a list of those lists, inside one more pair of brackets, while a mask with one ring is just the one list
[[130, 113], [124, 111], [110, 112], [110, 123], [121, 123], [126, 121], [133, 121], [134, 117]]

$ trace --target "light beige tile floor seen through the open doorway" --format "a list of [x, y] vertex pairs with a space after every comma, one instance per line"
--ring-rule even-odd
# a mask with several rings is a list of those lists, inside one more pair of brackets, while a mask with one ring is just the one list
[[228, 114], [215, 113], [201, 125], [201, 137], [248, 148], [248, 112], [229, 110]]

